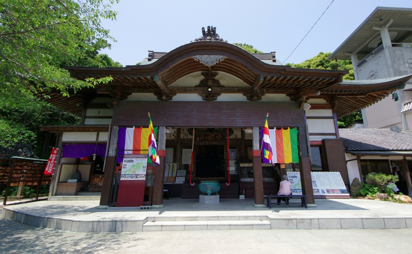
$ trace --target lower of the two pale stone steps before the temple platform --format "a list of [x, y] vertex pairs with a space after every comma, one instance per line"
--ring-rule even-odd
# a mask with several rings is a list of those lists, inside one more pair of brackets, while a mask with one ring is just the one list
[[147, 221], [143, 231], [168, 230], [239, 230], [239, 229], [270, 229], [267, 220], [253, 221]]

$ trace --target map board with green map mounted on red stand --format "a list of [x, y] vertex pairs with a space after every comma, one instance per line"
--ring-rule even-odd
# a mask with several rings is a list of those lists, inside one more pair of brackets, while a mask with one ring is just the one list
[[146, 180], [147, 154], [125, 154], [120, 180]]

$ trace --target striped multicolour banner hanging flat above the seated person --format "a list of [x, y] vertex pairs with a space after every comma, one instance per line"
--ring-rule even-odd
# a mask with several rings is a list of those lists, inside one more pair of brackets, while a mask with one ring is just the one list
[[297, 129], [269, 129], [269, 136], [273, 163], [299, 163]]

